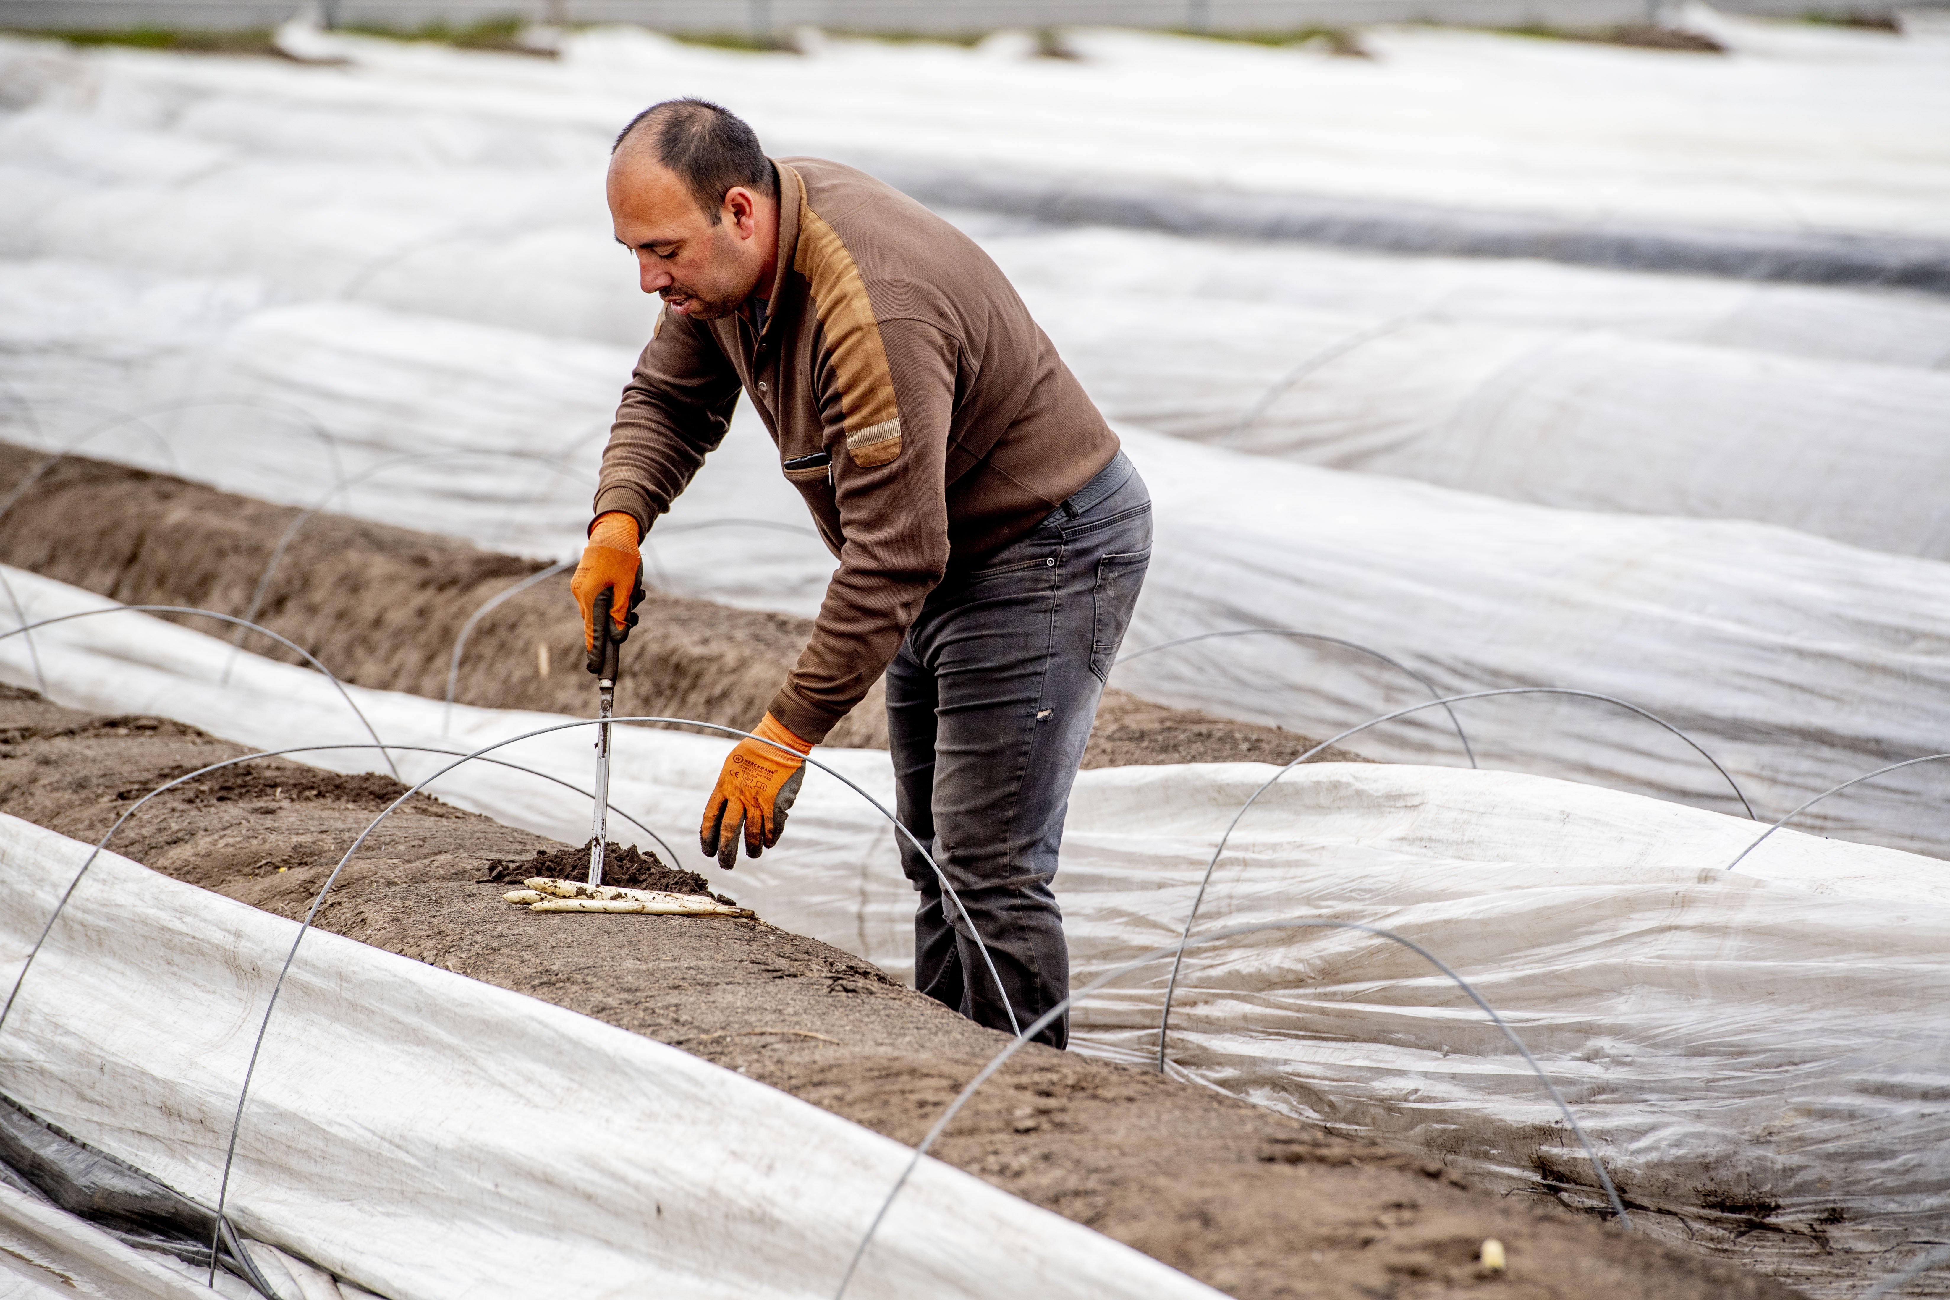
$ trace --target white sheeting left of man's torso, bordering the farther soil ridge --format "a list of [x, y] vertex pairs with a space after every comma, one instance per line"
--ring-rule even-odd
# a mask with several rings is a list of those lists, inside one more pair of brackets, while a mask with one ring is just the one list
[[[248, 279], [131, 288], [76, 263], [0, 273], [0, 302], [14, 439], [548, 557], [581, 548], [634, 359], [363, 304], [269, 306]], [[753, 518], [757, 534], [727, 522]], [[659, 524], [649, 579], [690, 591], [727, 538], [741, 563], [714, 598], [817, 610], [833, 557], [755, 423]]]

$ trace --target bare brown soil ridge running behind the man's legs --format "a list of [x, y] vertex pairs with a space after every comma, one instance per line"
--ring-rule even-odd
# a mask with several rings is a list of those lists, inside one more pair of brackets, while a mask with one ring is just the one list
[[[45, 460], [43, 452], [0, 442], [0, 501]], [[181, 604], [242, 618], [298, 515], [294, 507], [179, 478], [66, 456], [0, 516], [0, 563], [125, 604]], [[257, 622], [318, 655], [341, 680], [445, 700], [454, 635], [491, 596], [544, 567], [435, 534], [316, 515], [291, 542]], [[651, 593], [640, 612], [642, 624], [622, 647], [618, 713], [749, 729], [811, 633], [803, 618], [663, 593]], [[207, 618], [177, 622], [230, 635]], [[246, 643], [298, 663], [263, 637]], [[482, 618], [468, 635], [454, 700], [575, 717], [593, 711], [567, 573]], [[827, 743], [887, 748], [883, 700], [876, 684]], [[1108, 690], [1084, 766], [1285, 764], [1310, 746], [1306, 737], [1277, 727]], [[1365, 762], [1347, 750], [1316, 758], [1336, 760]]]

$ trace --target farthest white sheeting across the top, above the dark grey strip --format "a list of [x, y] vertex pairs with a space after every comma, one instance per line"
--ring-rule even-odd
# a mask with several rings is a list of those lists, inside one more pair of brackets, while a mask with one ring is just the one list
[[[1767, 25], [1726, 19], [1732, 39]], [[809, 55], [684, 47], [644, 31], [571, 35], [560, 62], [330, 37], [351, 68], [140, 62], [168, 113], [269, 80], [318, 154], [480, 158], [587, 150], [667, 94], [737, 101], [786, 150], [903, 154], [1051, 177], [1353, 195], [1570, 222], [1704, 222], [1751, 230], [1950, 234], [1946, 47], [1882, 33], [1802, 33], [1734, 58], [1435, 29], [1367, 33], [1377, 58], [1086, 31], [1084, 58], [1008, 43], [823, 41]], [[1160, 94], [1168, 86], [1170, 94]], [[201, 105], [199, 105], [201, 107]], [[523, 131], [505, 136], [509, 119]], [[400, 133], [429, 123], [441, 138]], [[1051, 123], [1061, 121], [1061, 131]], [[277, 123], [238, 117], [230, 138]]]

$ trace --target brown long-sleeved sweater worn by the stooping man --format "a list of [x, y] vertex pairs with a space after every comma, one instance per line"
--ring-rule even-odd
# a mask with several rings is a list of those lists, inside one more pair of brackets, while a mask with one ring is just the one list
[[840, 561], [772, 700], [823, 741], [942, 577], [1034, 528], [1110, 464], [1117, 435], [973, 240], [835, 162], [780, 160], [778, 181], [762, 329], [745, 314], [657, 318], [595, 509], [647, 534], [751, 396]]

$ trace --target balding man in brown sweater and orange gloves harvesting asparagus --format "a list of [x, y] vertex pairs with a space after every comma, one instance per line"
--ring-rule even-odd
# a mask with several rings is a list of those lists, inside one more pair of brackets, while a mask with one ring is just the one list
[[1150, 559], [1143, 479], [996, 265], [874, 177], [772, 162], [725, 109], [673, 99], [616, 138], [608, 205], [663, 312], [603, 452], [585, 633], [603, 591], [624, 628], [638, 544], [747, 394], [838, 569], [762, 739], [725, 758], [704, 852], [776, 844], [803, 756], [885, 672], [897, 813], [965, 908], [903, 840], [915, 986], [1028, 1027], [1069, 996], [1049, 887]]

